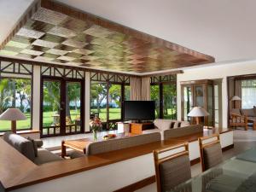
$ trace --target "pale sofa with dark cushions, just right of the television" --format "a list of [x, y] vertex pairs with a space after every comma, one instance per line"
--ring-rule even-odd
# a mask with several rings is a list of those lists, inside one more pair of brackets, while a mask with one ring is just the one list
[[189, 121], [180, 121], [173, 119], [155, 119], [154, 120], [154, 129], [144, 130], [143, 134], [152, 133], [152, 132], [160, 132], [161, 139], [164, 140], [164, 131], [170, 129], [177, 129], [189, 126]]

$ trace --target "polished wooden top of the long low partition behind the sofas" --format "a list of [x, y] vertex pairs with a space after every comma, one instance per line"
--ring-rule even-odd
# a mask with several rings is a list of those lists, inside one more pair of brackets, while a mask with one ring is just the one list
[[[221, 130], [218, 132], [222, 133]], [[210, 136], [214, 131], [204, 131], [203, 136]], [[191, 136], [195, 137], [195, 136]], [[152, 153], [154, 149], [175, 146], [186, 142], [185, 137], [177, 140], [159, 141], [132, 148], [124, 148], [105, 154], [84, 156], [73, 160], [61, 160], [41, 166], [33, 164], [15, 148], [0, 139], [0, 181], [6, 191], [19, 189], [35, 183], [42, 183], [58, 177], [84, 172], [100, 166], [107, 166], [121, 160], [128, 160], [143, 154]], [[2, 168], [4, 167], [4, 168]], [[0, 189], [1, 189], [0, 183]]]

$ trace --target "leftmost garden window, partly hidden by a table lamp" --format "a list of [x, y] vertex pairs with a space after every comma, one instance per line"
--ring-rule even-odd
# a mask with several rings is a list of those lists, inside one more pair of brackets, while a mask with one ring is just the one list
[[[31, 79], [0, 79], [0, 113], [8, 108], [20, 108], [26, 120], [17, 121], [17, 130], [31, 129]], [[10, 130], [10, 121], [0, 121], [0, 131]]]

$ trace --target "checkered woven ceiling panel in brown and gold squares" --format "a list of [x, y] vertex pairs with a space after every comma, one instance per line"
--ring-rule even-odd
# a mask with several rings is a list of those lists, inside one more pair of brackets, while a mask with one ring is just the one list
[[[43, 0], [47, 1], [47, 0]], [[47, 2], [48, 3], [48, 2]], [[90, 15], [90, 17], [92, 17]], [[96, 21], [95, 21], [96, 20]], [[195, 66], [214, 58], [190, 49], [132, 31], [103, 27], [99, 20], [78, 19], [51, 8], [39, 7], [8, 42], [1, 55], [13, 55], [35, 61], [53, 61], [71, 66], [121, 72], [147, 73]], [[111, 21], [104, 21], [109, 22]], [[118, 24], [114, 24], [117, 26]], [[145, 38], [146, 37], [146, 38]]]

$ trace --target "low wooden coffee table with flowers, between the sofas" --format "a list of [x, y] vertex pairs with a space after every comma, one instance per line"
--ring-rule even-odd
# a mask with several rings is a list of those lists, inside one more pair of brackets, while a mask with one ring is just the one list
[[[107, 135], [107, 134], [106, 134]], [[125, 133], [118, 133], [116, 137], [110, 139], [117, 139], [121, 137], [131, 137], [134, 134], [129, 133], [125, 135]], [[96, 142], [105, 141], [102, 137], [99, 137]], [[73, 150], [79, 151], [83, 154], [86, 154], [86, 147], [90, 144], [94, 143], [93, 138], [83, 138], [83, 139], [76, 139], [76, 140], [66, 140], [61, 142], [61, 157], [64, 158], [67, 155], [67, 148], [72, 148]]]

